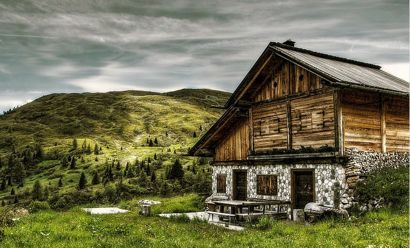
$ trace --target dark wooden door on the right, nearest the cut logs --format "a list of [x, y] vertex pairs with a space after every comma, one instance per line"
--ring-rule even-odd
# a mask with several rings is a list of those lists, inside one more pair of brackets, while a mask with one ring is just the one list
[[292, 170], [292, 209], [303, 209], [309, 202], [315, 202], [315, 172], [313, 170]]

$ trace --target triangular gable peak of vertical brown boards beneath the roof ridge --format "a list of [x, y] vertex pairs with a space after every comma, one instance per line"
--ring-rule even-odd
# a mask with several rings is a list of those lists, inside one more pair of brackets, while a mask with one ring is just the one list
[[278, 69], [264, 82], [253, 102], [286, 97], [322, 88], [321, 78], [284, 60]]

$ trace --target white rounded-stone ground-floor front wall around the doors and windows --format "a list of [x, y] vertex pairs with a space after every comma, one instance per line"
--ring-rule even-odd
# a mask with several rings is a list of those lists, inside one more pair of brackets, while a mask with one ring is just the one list
[[[248, 198], [265, 200], [291, 200], [291, 169], [314, 169], [316, 202], [333, 205], [334, 183], [339, 182], [340, 195], [347, 189], [345, 169], [341, 164], [283, 164], [283, 165], [249, 165], [249, 166], [214, 166], [212, 190], [214, 196], [227, 196], [232, 199], [232, 171], [246, 170], [248, 180]], [[226, 175], [226, 193], [216, 193], [216, 176]], [[278, 195], [257, 195], [256, 175], [277, 175]], [[290, 213], [290, 206], [288, 212]]]

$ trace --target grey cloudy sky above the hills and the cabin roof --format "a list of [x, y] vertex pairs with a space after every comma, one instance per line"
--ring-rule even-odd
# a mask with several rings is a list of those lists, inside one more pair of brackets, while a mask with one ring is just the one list
[[408, 0], [0, 0], [0, 112], [53, 92], [233, 92], [289, 38], [409, 80]]

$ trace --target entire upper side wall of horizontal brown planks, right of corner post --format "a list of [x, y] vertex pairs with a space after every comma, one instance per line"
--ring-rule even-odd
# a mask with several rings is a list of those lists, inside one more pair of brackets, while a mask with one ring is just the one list
[[408, 99], [344, 90], [341, 102], [345, 149], [408, 151]]

